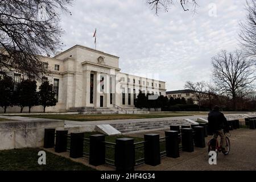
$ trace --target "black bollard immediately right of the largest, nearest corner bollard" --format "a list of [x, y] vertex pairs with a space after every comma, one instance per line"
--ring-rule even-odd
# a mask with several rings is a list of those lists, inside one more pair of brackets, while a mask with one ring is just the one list
[[144, 135], [144, 158], [145, 164], [156, 166], [160, 164], [159, 134]]

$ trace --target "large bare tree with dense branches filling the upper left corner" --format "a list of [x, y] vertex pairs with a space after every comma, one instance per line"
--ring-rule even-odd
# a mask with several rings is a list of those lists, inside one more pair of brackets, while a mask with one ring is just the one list
[[67, 11], [72, 1], [0, 1], [0, 69], [32, 76], [44, 72], [38, 55], [50, 55], [61, 46], [58, 12]]

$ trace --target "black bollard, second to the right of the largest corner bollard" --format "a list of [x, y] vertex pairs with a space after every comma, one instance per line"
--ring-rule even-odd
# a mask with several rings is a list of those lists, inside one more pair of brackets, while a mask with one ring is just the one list
[[166, 134], [166, 156], [169, 158], [179, 158], [179, 137], [178, 131], [165, 131]]

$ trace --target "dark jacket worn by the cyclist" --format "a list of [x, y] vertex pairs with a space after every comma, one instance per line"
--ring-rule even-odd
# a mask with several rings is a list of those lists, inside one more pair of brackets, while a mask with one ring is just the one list
[[210, 111], [208, 114], [208, 126], [210, 132], [224, 129], [227, 126], [224, 114], [215, 110]]

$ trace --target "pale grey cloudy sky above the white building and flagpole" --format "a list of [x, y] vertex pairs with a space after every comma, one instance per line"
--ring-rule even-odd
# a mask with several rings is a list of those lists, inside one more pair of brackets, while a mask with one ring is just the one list
[[63, 49], [81, 44], [119, 56], [121, 72], [159, 78], [167, 90], [210, 81], [211, 57], [238, 47], [245, 0], [198, 1], [196, 13], [176, 3], [156, 16], [146, 0], [74, 0], [62, 15]]

